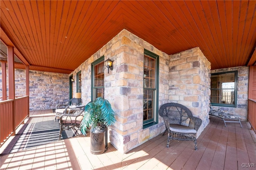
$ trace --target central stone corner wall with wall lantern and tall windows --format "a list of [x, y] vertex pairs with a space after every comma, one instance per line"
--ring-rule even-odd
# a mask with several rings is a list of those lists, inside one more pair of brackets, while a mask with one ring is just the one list
[[[120, 152], [141, 145], [165, 130], [163, 121], [143, 129], [143, 59], [144, 49], [160, 56], [159, 103], [168, 102], [168, 55], [127, 30], [122, 30], [74, 72], [82, 72], [82, 103], [91, 101], [91, 63], [104, 55], [114, 69], [109, 74], [104, 67], [105, 98], [116, 113], [116, 123], [109, 129], [110, 142]], [[76, 89], [76, 80], [73, 89]]]

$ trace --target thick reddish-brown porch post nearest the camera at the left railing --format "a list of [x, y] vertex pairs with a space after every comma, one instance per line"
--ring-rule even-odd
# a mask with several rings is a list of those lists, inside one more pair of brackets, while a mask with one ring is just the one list
[[7, 57], [8, 57], [8, 80], [9, 80], [9, 99], [13, 100], [12, 102], [12, 135], [15, 133], [15, 84], [14, 84], [14, 47], [7, 46]]

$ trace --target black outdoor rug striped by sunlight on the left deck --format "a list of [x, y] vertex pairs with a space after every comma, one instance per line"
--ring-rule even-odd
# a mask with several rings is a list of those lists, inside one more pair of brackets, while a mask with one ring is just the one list
[[[49, 121], [24, 124], [20, 131], [22, 131], [22, 133], [16, 134], [14, 139], [12, 139], [12, 142], [8, 147], [6, 147], [1, 155], [58, 141], [60, 125], [58, 120], [54, 122], [53, 119]], [[67, 139], [78, 135], [82, 135], [81, 131], [77, 127], [73, 127], [62, 131], [61, 139]]]

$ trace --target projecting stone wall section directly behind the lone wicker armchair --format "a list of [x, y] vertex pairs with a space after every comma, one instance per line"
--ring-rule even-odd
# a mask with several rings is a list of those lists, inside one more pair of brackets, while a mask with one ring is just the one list
[[202, 119], [197, 136], [209, 123], [211, 64], [199, 47], [170, 55], [169, 102], [188, 107]]

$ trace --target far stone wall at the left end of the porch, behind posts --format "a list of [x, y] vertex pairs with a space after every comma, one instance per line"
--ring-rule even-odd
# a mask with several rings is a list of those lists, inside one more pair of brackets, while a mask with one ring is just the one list
[[[2, 96], [2, 69], [0, 68], [0, 96]], [[8, 70], [7, 96], [8, 96]], [[26, 72], [23, 69], [14, 69], [15, 96], [26, 96]], [[29, 71], [29, 109], [55, 109], [56, 104], [69, 100], [68, 74]]]

